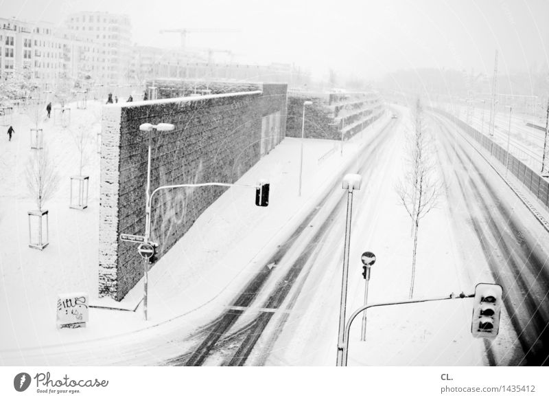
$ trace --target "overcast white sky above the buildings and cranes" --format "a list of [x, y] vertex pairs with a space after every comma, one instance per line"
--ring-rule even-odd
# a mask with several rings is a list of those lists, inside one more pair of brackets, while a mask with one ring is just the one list
[[189, 34], [189, 47], [231, 49], [242, 60], [296, 63], [366, 78], [414, 67], [500, 70], [547, 65], [546, 0], [0, 0], [0, 16], [62, 23], [70, 12], [130, 16], [133, 40], [177, 46], [163, 28], [226, 28]]

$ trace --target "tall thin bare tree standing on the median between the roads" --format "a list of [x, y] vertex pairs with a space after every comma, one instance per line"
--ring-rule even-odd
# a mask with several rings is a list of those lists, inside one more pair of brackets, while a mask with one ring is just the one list
[[419, 221], [436, 206], [437, 197], [441, 192], [441, 185], [434, 174], [432, 140], [428, 137], [425, 129], [420, 100], [417, 100], [414, 117], [414, 130], [411, 135], [408, 135], [406, 143], [408, 165], [406, 166], [404, 179], [401, 179], [396, 187], [401, 203], [408, 212], [410, 219], [412, 219], [414, 247], [412, 251], [410, 298], [414, 294]]

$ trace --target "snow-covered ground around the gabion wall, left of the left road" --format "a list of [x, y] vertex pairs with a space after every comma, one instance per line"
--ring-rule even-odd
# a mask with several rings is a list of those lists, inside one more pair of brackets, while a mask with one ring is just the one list
[[[22, 115], [19, 118], [20, 130], [24, 132], [24, 118]], [[249, 276], [264, 267], [277, 243], [292, 233], [323, 192], [329, 190], [331, 178], [345, 169], [389, 118], [390, 113], [386, 113], [362, 134], [345, 142], [342, 156], [339, 142], [305, 140], [301, 197], [297, 193], [301, 140], [283, 140], [238, 181], [255, 184], [261, 178], [269, 179], [268, 207], [255, 205], [255, 190], [230, 188], [151, 269], [148, 321], [143, 319], [141, 305], [135, 312], [92, 308], [86, 328], [74, 330], [56, 329], [58, 293], [85, 291], [91, 304], [135, 309], [143, 295], [143, 284], [139, 282], [119, 303], [96, 298], [99, 171], [95, 159], [88, 168], [89, 208], [82, 212], [69, 209], [68, 193], [60, 193], [47, 204], [50, 245], [43, 252], [27, 247], [26, 210], [32, 203], [23, 194], [24, 168], [18, 160], [30, 148], [27, 143], [30, 139], [25, 140], [21, 133], [18, 142], [10, 143], [16, 145], [15, 149], [0, 153], [5, 164], [15, 159], [10, 182], [2, 177], [3, 193], [10, 184], [16, 188], [13, 195], [0, 197], [1, 209], [13, 210], [0, 216], [0, 240], [13, 243], [16, 239], [15, 246], [3, 246], [0, 252], [0, 318], [6, 322], [0, 331], [0, 364], [28, 364], [48, 346], [66, 346], [130, 332], [136, 332], [133, 337], [147, 335], [148, 328], [182, 316], [187, 331], [193, 331], [211, 318], [211, 309], [229, 302]], [[54, 129], [45, 127], [45, 138], [53, 132]], [[25, 133], [28, 135], [28, 131]], [[74, 160], [67, 160], [70, 157], [63, 151], [69, 146], [70, 137], [58, 135], [57, 140], [54, 157], [64, 166], [71, 165]], [[71, 172], [67, 171], [62, 179], [68, 180]]]

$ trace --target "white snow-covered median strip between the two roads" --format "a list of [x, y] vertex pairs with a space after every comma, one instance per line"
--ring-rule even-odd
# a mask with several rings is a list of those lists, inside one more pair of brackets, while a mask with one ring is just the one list
[[[347, 316], [364, 299], [360, 254], [372, 251], [369, 302], [406, 300], [410, 285], [412, 238], [410, 218], [399, 204], [395, 183], [403, 174], [404, 131], [410, 130], [410, 115], [400, 109], [403, 121], [388, 137], [376, 156], [373, 170], [357, 192], [353, 208], [351, 265]], [[344, 210], [343, 210], [344, 211]], [[343, 212], [339, 218], [344, 221]], [[469, 293], [473, 282], [460, 265], [456, 230], [448, 212], [447, 199], [425, 220], [419, 233], [416, 298]], [[341, 285], [342, 236], [344, 226], [329, 239], [316, 258], [316, 274], [309, 278], [273, 346], [266, 365], [334, 365]], [[436, 243], [436, 245], [433, 245]], [[322, 260], [322, 261], [320, 261]], [[311, 275], [314, 276], [314, 273]], [[482, 365], [482, 342], [470, 333], [471, 301], [452, 300], [430, 304], [371, 309], [366, 342], [361, 342], [362, 318], [351, 328], [349, 365]], [[304, 361], [307, 360], [307, 361]]]

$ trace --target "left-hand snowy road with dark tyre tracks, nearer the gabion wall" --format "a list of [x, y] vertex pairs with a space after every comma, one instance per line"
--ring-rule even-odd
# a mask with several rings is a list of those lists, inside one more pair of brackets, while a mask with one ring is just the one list
[[[375, 163], [379, 161], [377, 155], [386, 154], [394, 144], [394, 121], [373, 137], [366, 151], [346, 173], [359, 173], [366, 182], [369, 180]], [[335, 177], [334, 188], [320, 200], [290, 238], [279, 245], [266, 266], [218, 318], [202, 329], [199, 344], [191, 351], [168, 360], [167, 364], [244, 365], [250, 354], [253, 357], [248, 364], [264, 364], [274, 341], [285, 330], [289, 314], [306, 316], [305, 309], [294, 309], [298, 296], [303, 296], [305, 281], [310, 285], [311, 280], [316, 281], [337, 271], [340, 265], [338, 259], [342, 255], [340, 249], [347, 207], [347, 197], [341, 190], [342, 177]], [[323, 262], [323, 257], [319, 256], [321, 252], [328, 253], [335, 263]], [[337, 297], [338, 291], [332, 291], [329, 297], [334, 297], [334, 294]], [[293, 331], [292, 326], [290, 331]], [[264, 334], [266, 337], [262, 336]]]

